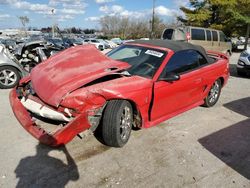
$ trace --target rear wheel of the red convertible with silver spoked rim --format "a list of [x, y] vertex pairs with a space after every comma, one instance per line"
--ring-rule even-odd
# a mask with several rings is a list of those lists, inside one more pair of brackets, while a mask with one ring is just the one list
[[220, 93], [221, 93], [221, 81], [220, 79], [218, 79], [213, 83], [207, 97], [204, 99], [204, 106], [205, 107], [214, 106], [219, 100]]

